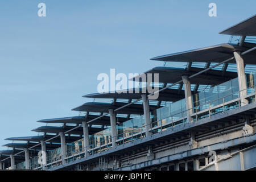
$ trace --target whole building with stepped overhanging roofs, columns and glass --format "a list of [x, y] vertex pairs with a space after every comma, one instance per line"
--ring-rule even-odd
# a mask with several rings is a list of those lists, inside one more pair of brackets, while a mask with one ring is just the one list
[[142, 88], [87, 94], [94, 101], [74, 108], [78, 116], [42, 119], [47, 125], [32, 130], [40, 135], [6, 138], [1, 169], [255, 169], [256, 15], [220, 34], [229, 42], [151, 59], [164, 61], [142, 74], [158, 74], [147, 83], [158, 87], [156, 100]]

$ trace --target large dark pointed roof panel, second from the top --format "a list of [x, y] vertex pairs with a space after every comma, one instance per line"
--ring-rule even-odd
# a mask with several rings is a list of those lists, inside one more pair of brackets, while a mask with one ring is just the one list
[[[243, 47], [234, 44], [218, 44], [216, 46], [209, 46], [190, 51], [171, 53], [168, 55], [153, 57], [150, 60], [158, 61], [180, 61], [180, 62], [208, 62], [220, 63], [230, 57], [233, 57], [234, 51], [246, 51], [247, 49], [255, 47], [256, 44], [243, 44]], [[256, 64], [256, 51], [251, 51], [243, 55], [245, 64]], [[236, 63], [233, 59], [229, 63]]]

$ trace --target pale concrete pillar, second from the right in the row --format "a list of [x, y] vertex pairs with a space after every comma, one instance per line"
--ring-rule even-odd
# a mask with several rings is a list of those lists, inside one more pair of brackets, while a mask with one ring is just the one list
[[192, 104], [192, 93], [191, 93], [191, 84], [187, 75], [181, 76], [183, 80], [183, 84], [185, 87], [185, 102], [186, 102], [186, 109], [187, 109], [187, 118], [188, 122], [192, 122], [192, 118], [190, 115], [193, 113], [193, 104]]

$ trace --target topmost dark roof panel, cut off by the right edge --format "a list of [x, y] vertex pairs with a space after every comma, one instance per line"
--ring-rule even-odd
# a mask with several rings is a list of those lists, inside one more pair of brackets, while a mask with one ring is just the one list
[[240, 36], [256, 36], [256, 15], [235, 24], [234, 26], [221, 31], [220, 34], [240, 35]]

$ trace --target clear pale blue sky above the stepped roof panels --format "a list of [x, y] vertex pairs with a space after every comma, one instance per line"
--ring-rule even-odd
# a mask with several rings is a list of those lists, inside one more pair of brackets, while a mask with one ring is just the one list
[[[38, 16], [40, 2], [46, 17]], [[211, 2], [217, 17], [208, 16]], [[151, 57], [228, 42], [218, 32], [255, 7], [255, 0], [0, 1], [0, 146], [37, 135], [39, 119], [79, 114], [71, 109], [97, 92], [99, 73], [142, 73], [163, 65]]]

